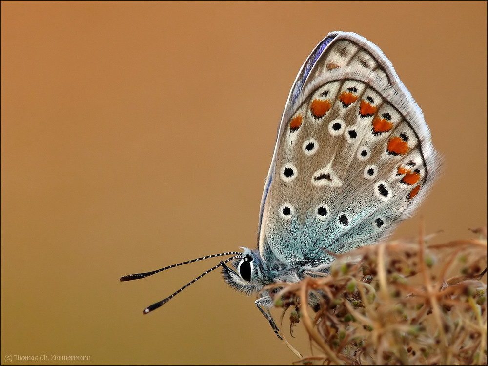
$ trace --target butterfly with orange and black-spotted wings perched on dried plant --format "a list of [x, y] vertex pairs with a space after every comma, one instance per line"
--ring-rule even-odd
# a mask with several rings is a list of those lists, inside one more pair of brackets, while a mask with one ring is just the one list
[[230, 287], [264, 295], [255, 304], [282, 338], [264, 286], [326, 274], [334, 254], [384, 239], [422, 202], [439, 166], [423, 113], [391, 62], [362, 36], [331, 32], [306, 59], [285, 104], [261, 199], [257, 248], [121, 281], [230, 256], [144, 313], [222, 267]]

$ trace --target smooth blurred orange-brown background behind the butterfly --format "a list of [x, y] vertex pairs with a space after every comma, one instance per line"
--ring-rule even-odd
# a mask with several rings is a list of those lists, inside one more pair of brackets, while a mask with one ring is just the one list
[[[334, 30], [377, 44], [444, 174], [394, 238], [487, 224], [486, 2], [1, 2], [1, 357], [296, 360], [218, 263], [255, 247], [276, 128]], [[298, 328], [301, 328], [300, 326]], [[308, 354], [301, 329], [293, 345]], [[83, 364], [16, 361], [13, 364]]]

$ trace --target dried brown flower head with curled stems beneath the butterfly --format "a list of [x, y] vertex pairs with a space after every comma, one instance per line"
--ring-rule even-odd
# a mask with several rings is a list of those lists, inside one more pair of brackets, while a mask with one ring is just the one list
[[[486, 229], [477, 233], [362, 247], [325, 277], [268, 286], [291, 326], [305, 325], [313, 354], [300, 363], [486, 365]], [[315, 315], [309, 296], [320, 299]]]

